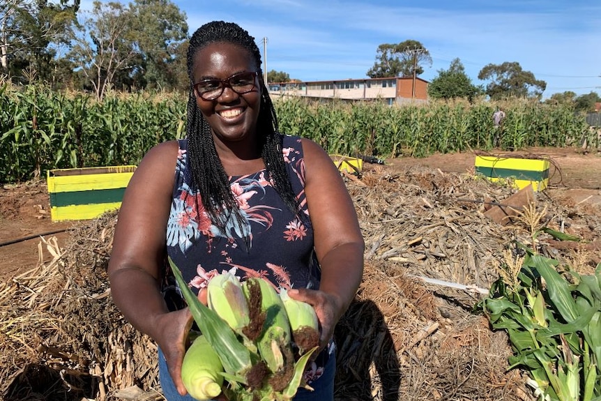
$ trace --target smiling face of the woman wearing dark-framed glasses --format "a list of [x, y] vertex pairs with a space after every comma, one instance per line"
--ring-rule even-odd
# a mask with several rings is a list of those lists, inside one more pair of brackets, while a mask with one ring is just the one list
[[[255, 73], [256, 63], [248, 50], [231, 43], [211, 43], [194, 56], [192, 79], [195, 85], [196, 104], [206, 121], [213, 129], [215, 139], [221, 142], [240, 142], [254, 139], [261, 105], [259, 76], [254, 75], [254, 88], [248, 93], [236, 93], [231, 86], [219, 82], [238, 73]], [[207, 80], [216, 80], [210, 82]], [[199, 84], [199, 82], [202, 82]], [[238, 91], [246, 91], [249, 86], [240, 86], [236, 78], [230, 81]], [[223, 86], [222, 93], [213, 100], [211, 88]], [[252, 87], [252, 85], [250, 86]], [[243, 88], [241, 90], [241, 88]], [[197, 90], [198, 89], [198, 90]], [[218, 92], [217, 92], [218, 93]]]

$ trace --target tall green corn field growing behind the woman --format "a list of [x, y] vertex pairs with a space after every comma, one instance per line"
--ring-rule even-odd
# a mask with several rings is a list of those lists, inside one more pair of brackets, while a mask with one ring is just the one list
[[[0, 82], [0, 183], [26, 181], [49, 169], [137, 165], [153, 145], [185, 135], [186, 101], [182, 93], [108, 93], [98, 103], [86, 93]], [[498, 106], [506, 118], [494, 128]], [[308, 137], [328, 153], [349, 156], [490, 150], [496, 135], [502, 149], [601, 148], [586, 116], [532, 100], [390, 107], [286, 98], [275, 101], [275, 109], [282, 133]]]

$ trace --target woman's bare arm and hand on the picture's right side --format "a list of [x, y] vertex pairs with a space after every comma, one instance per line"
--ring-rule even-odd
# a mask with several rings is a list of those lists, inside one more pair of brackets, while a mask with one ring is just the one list
[[357, 213], [340, 172], [321, 146], [303, 139], [305, 194], [321, 266], [319, 291], [289, 294], [313, 305], [321, 324], [321, 343], [334, 333], [363, 277], [365, 243]]

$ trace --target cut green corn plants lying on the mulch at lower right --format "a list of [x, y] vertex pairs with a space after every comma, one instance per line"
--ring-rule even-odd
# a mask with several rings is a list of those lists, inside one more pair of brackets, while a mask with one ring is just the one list
[[509, 335], [509, 368], [526, 370], [542, 400], [598, 400], [601, 264], [595, 275], [571, 272], [570, 281], [556, 266], [554, 259], [526, 254], [514, 282], [497, 280], [482, 308], [492, 327]]

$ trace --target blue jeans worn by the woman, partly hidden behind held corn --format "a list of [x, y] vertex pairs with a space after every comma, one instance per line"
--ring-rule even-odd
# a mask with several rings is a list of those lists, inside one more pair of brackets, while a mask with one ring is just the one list
[[[167, 401], [196, 401], [189, 394], [185, 396], [179, 395], [177, 388], [173, 383], [169, 371], [167, 370], [167, 361], [162, 351], [158, 350], [158, 372], [162, 394]], [[311, 383], [314, 391], [299, 388], [294, 396], [294, 401], [333, 401], [334, 400], [334, 376], [336, 372], [336, 353], [330, 354], [324, 374], [319, 379]]]

